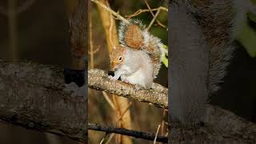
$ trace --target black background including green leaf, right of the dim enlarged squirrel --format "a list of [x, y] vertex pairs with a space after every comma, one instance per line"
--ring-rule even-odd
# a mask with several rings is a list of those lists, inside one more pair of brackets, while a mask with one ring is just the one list
[[[256, 6], [256, 0], [251, 0]], [[247, 13], [221, 89], [210, 103], [256, 123], [256, 14]]]

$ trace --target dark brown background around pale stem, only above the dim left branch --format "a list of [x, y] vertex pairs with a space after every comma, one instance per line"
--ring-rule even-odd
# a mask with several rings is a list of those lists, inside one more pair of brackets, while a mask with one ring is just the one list
[[[17, 1], [17, 0], [16, 0]], [[22, 6], [29, 0], [18, 0]], [[7, 1], [0, 6], [8, 9]], [[35, 0], [17, 15], [19, 61], [70, 66], [70, 33], [66, 2]], [[0, 58], [11, 61], [8, 16], [0, 14]]]

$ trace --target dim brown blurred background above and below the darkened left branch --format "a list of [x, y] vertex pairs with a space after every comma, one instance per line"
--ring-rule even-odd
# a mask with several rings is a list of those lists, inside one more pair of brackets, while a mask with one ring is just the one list
[[[74, 66], [70, 54], [70, 13], [78, 0], [1, 0], [0, 59]], [[0, 122], [2, 144], [78, 144], [70, 138]]]

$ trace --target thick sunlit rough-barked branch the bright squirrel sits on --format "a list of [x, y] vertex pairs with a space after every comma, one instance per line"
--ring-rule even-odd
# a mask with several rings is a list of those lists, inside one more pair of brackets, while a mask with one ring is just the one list
[[104, 70], [93, 69], [88, 71], [88, 86], [125, 98], [147, 102], [164, 109], [168, 108], [168, 90], [156, 83], [151, 90], [137, 90], [134, 85], [129, 83], [110, 80]]

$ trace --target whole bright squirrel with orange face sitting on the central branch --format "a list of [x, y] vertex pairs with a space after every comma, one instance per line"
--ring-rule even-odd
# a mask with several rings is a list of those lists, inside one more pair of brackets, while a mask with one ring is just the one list
[[152, 87], [161, 67], [164, 54], [162, 42], [151, 35], [139, 20], [121, 22], [118, 29], [120, 46], [110, 53], [110, 67], [114, 70], [113, 79], [129, 82], [145, 89]]

